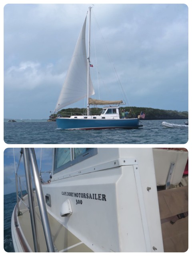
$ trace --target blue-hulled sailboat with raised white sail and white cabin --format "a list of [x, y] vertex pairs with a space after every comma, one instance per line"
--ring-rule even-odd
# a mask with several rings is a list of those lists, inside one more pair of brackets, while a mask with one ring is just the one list
[[[110, 128], [139, 128], [139, 118], [121, 118], [120, 104], [124, 104], [122, 100], [106, 101], [95, 100], [91, 96], [94, 95], [94, 87], [90, 77], [90, 22], [91, 8], [89, 7], [89, 32], [88, 32], [88, 56], [86, 53], [86, 19], [82, 26], [74, 54], [64, 81], [58, 102], [54, 113], [59, 110], [82, 100], [87, 99], [87, 109], [84, 115], [72, 115], [70, 117], [62, 117], [58, 114], [56, 118], [57, 126], [60, 129], [77, 130], [77, 129], [110, 129]], [[90, 105], [105, 106], [101, 114], [91, 114]], [[111, 106], [113, 105], [113, 106]]]

